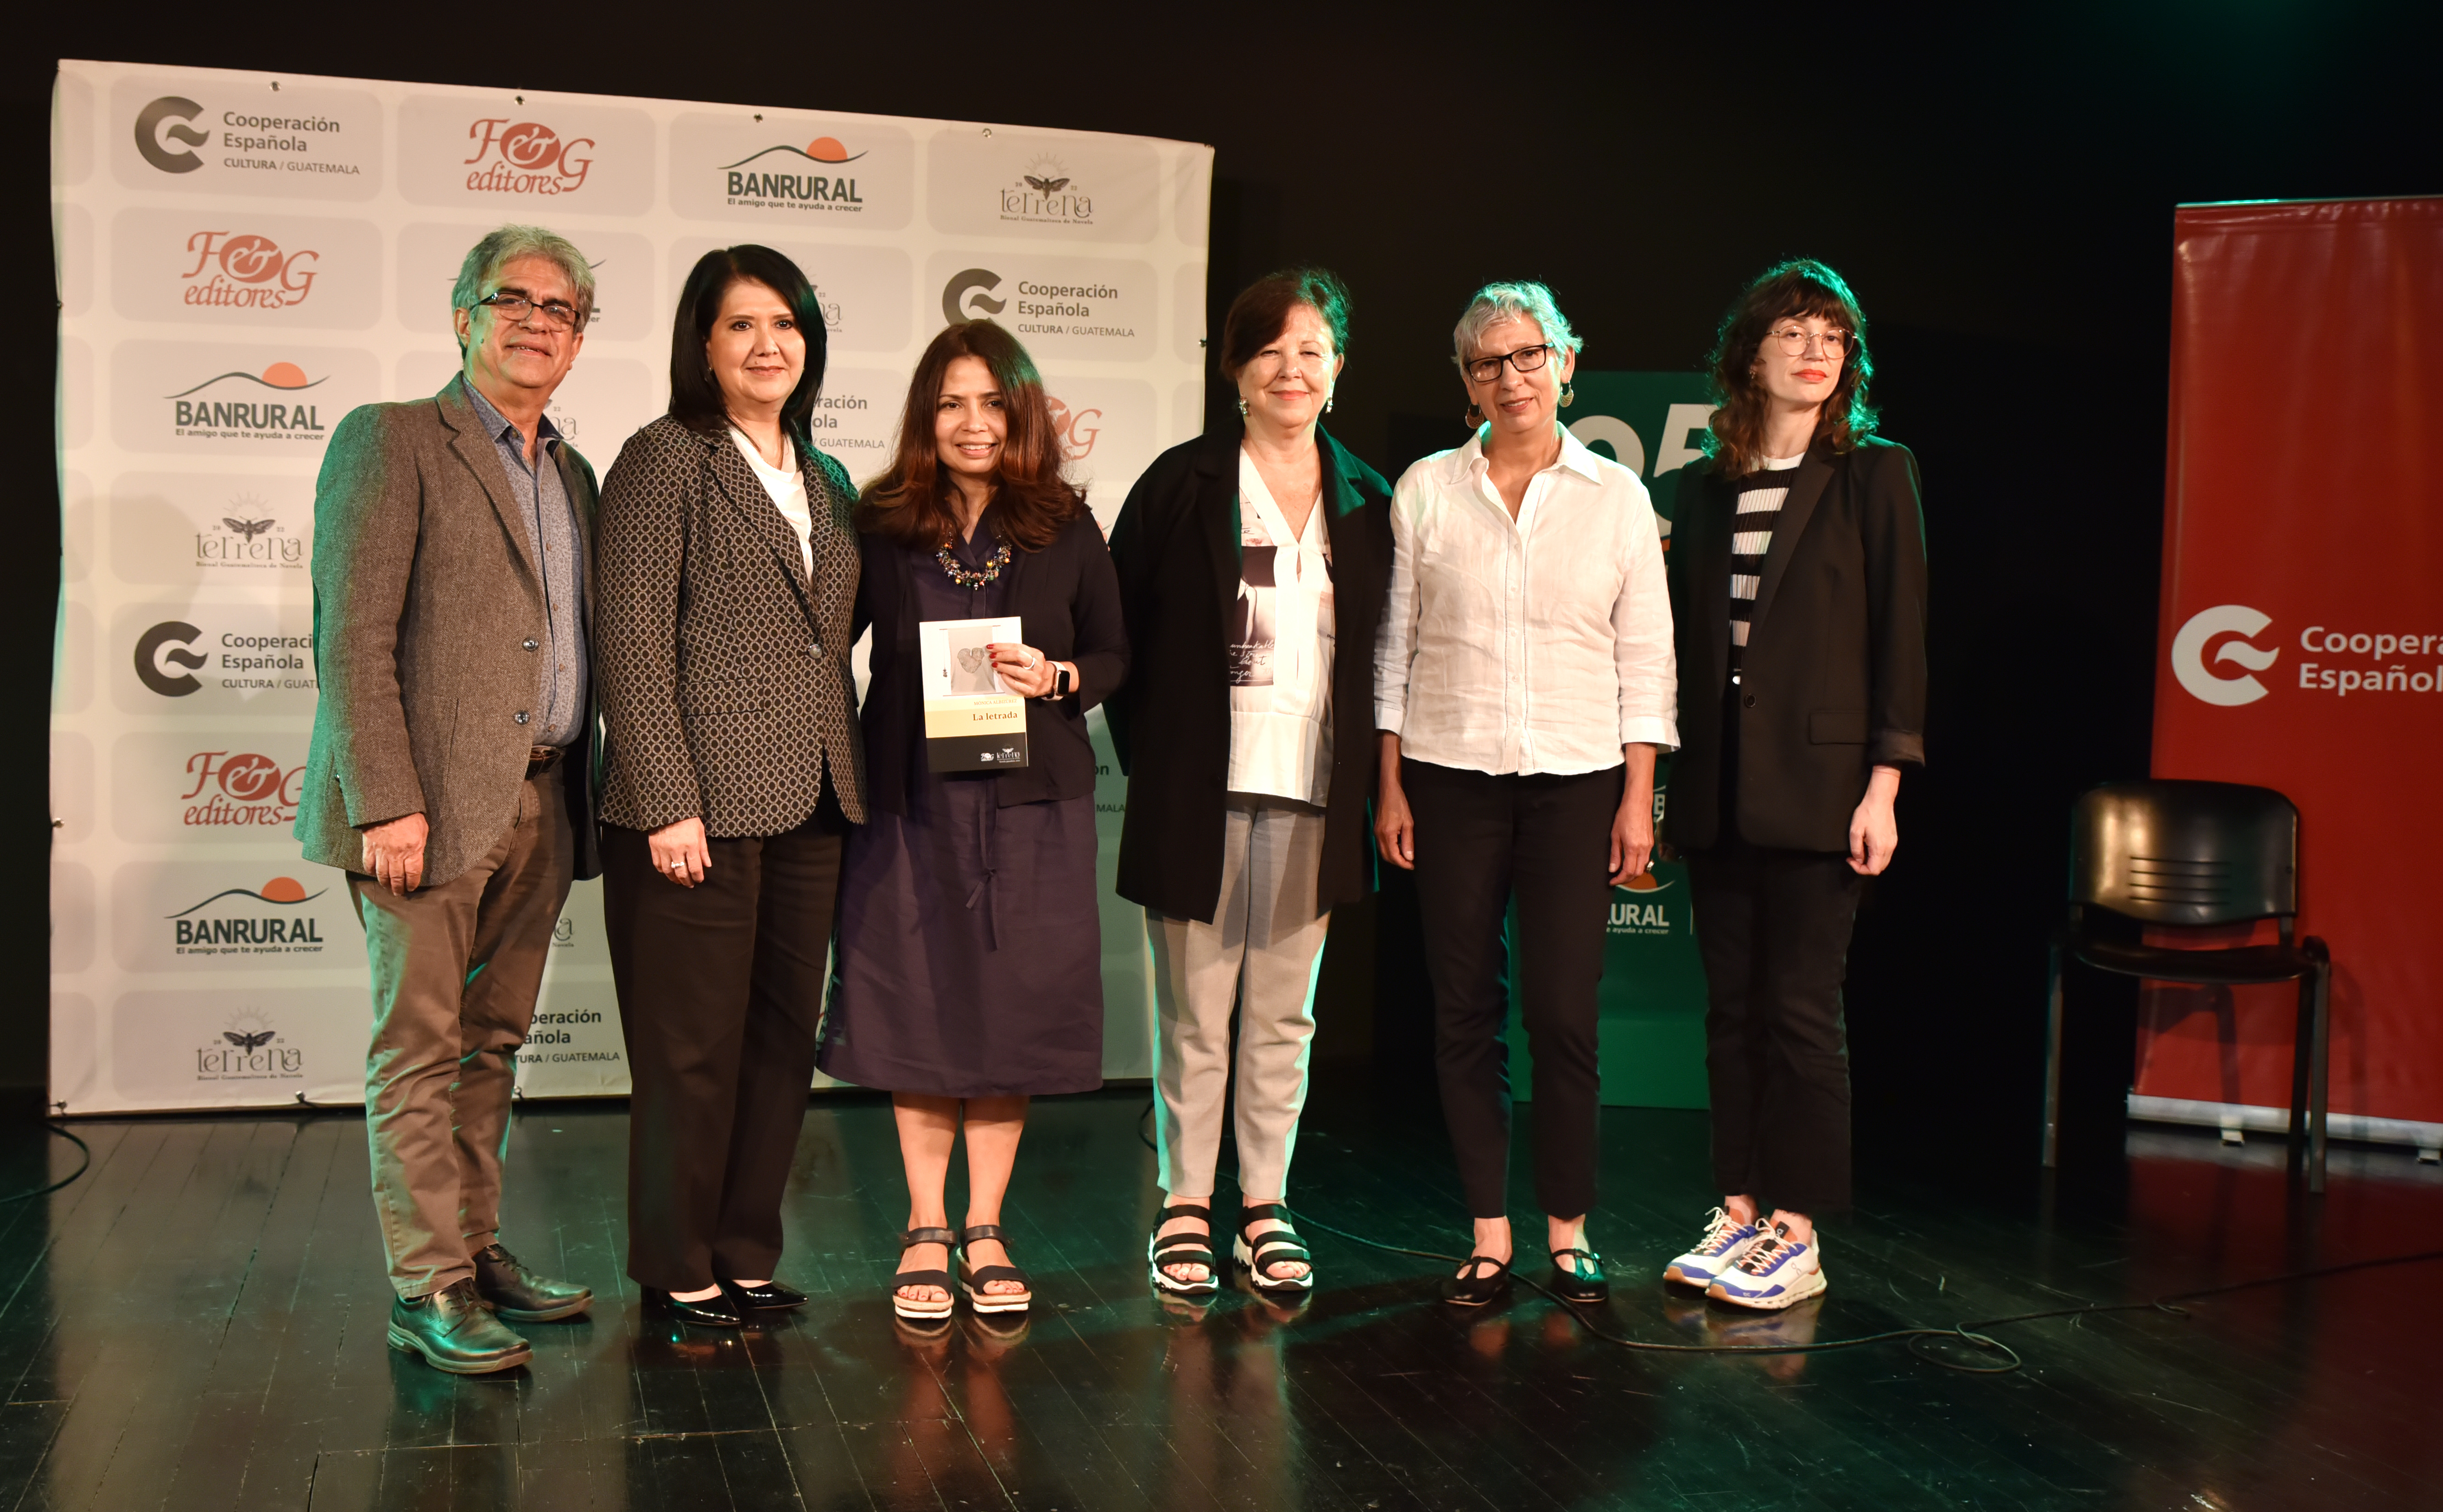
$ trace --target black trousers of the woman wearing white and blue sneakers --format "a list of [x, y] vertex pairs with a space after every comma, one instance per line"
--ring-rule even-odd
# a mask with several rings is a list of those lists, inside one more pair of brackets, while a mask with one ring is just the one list
[[1849, 857], [1727, 840], [1688, 852], [1705, 958], [1713, 1177], [1808, 1216], [1849, 1207], [1840, 984], [1864, 877]]

